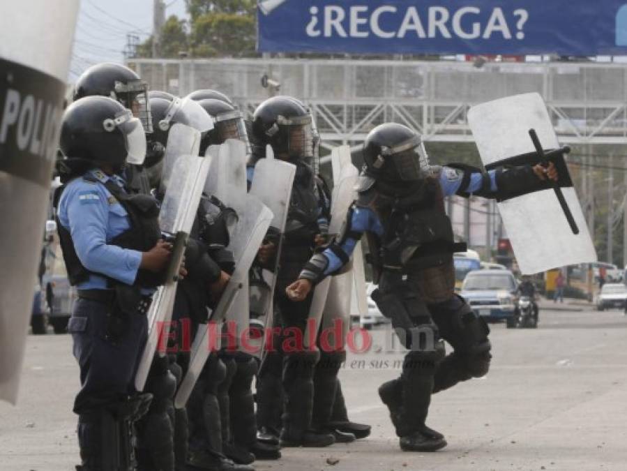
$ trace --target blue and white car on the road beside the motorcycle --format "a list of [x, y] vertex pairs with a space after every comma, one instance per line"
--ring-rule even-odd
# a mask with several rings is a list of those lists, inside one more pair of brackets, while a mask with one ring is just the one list
[[477, 270], [466, 275], [461, 295], [486, 320], [513, 322], [517, 287], [509, 270]]

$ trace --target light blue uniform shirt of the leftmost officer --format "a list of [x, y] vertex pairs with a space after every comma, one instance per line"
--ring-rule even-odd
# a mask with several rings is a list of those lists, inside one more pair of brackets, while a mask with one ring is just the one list
[[[142, 253], [109, 245], [114, 237], [130, 228], [130, 219], [104, 184], [112, 180], [123, 188], [123, 180], [116, 175], [109, 177], [100, 170], [90, 170], [87, 174], [102, 184], [84, 178], [70, 181], [59, 200], [59, 222], [70, 232], [76, 254], [86, 269], [132, 285]], [[89, 279], [77, 287], [106, 289], [106, 278], [97, 274], [90, 274]]]

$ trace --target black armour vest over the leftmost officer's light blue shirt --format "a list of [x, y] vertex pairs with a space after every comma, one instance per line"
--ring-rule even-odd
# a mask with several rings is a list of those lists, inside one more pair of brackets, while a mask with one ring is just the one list
[[[83, 178], [87, 181], [93, 181], [96, 184], [102, 184], [100, 181], [92, 177]], [[111, 180], [107, 181], [104, 186], [107, 190], [109, 190], [109, 193], [111, 193], [113, 197], [118, 200], [130, 218], [130, 228], [114, 237], [114, 239], [109, 242], [109, 245], [128, 248], [140, 252], [149, 251], [155, 246], [158, 239], [161, 237], [157, 219], [159, 216], [159, 205], [157, 200], [149, 195], [128, 195], [128, 193]], [[64, 188], [65, 185], [56, 190], [57, 194], [54, 198], [56, 202], [59, 201]], [[56, 227], [59, 230], [59, 240], [61, 242], [61, 250], [63, 251], [63, 260], [66, 262], [66, 269], [68, 271], [70, 284], [74, 286], [82, 281], [86, 281], [92, 272], [86, 269], [80, 262], [74, 248], [74, 241], [72, 240], [70, 232], [63, 227], [63, 225], [61, 225], [58, 217], [56, 218]], [[105, 276], [102, 274], [98, 275]], [[137, 272], [135, 285], [139, 287], [155, 287], [163, 284], [162, 278], [163, 276], [160, 274], [154, 274], [150, 271], [140, 269]], [[111, 278], [108, 279], [109, 283], [116, 283], [116, 281]]]

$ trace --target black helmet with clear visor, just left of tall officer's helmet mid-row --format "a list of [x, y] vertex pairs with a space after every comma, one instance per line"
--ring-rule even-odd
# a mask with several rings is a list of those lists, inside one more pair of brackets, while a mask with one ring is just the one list
[[200, 144], [200, 155], [204, 156], [207, 147], [219, 145], [227, 139], [238, 139], [246, 144], [250, 154], [250, 142], [243, 114], [233, 105], [215, 98], [199, 100], [198, 104], [213, 118], [213, 129], [206, 133]]

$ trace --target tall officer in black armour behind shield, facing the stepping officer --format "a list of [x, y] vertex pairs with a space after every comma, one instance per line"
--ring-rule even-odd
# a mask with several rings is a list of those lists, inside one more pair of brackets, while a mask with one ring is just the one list
[[[311, 297], [305, 303], [288, 299], [285, 287], [309, 260], [321, 233], [324, 220], [324, 197], [316, 184], [309, 162], [313, 156], [312, 121], [310, 114], [296, 100], [277, 96], [264, 101], [255, 110], [252, 133], [259, 147], [270, 144], [275, 158], [296, 165], [296, 177], [289, 203], [285, 238], [280, 253], [275, 291], [276, 322], [284, 329], [305, 331]], [[255, 158], [252, 159], [252, 163]], [[252, 170], [249, 171], [249, 177]], [[322, 219], [322, 220], [321, 220]], [[272, 257], [275, 247], [266, 244], [261, 257]], [[278, 344], [281, 344], [279, 341]], [[275, 397], [280, 394], [282, 382], [285, 394], [280, 442], [284, 447], [325, 447], [335, 442], [333, 435], [312, 430], [313, 375], [319, 352], [269, 351], [259, 373], [258, 424], [262, 432], [270, 431], [277, 407]], [[282, 380], [281, 380], [282, 378]], [[281, 380], [279, 382], [279, 380]], [[280, 405], [278, 406], [280, 407]], [[268, 439], [264, 437], [264, 439]]]

